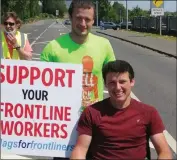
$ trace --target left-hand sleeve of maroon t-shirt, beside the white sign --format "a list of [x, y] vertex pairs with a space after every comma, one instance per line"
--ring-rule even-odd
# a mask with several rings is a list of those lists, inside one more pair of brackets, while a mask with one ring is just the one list
[[87, 107], [81, 114], [78, 121], [77, 131], [79, 135], [86, 134], [92, 136], [93, 118], [90, 108]]

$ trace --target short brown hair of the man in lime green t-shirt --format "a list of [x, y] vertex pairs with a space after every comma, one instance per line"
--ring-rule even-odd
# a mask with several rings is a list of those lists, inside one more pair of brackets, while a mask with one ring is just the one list
[[72, 0], [70, 7], [68, 9], [69, 16], [72, 17], [74, 8], [93, 8], [95, 16], [95, 4], [92, 0]]

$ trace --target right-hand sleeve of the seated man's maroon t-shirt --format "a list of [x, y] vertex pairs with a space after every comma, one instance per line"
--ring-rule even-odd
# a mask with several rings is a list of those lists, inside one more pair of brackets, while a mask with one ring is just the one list
[[158, 113], [158, 111], [153, 108], [153, 111], [151, 112], [150, 116], [150, 136], [158, 134], [158, 133], [163, 133], [165, 130], [164, 124], [162, 122], [162, 119]]

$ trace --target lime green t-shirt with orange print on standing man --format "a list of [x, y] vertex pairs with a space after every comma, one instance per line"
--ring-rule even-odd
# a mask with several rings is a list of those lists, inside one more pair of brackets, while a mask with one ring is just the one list
[[109, 40], [89, 33], [84, 44], [75, 43], [69, 33], [46, 45], [40, 59], [47, 62], [83, 64], [82, 106], [103, 99], [102, 67], [115, 60]]

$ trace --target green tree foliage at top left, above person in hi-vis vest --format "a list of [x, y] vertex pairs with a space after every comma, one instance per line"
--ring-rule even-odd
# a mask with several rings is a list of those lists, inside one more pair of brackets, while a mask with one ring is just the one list
[[64, 15], [65, 0], [1, 0], [1, 16], [14, 11], [22, 20], [39, 16], [40, 13], [55, 15], [56, 10], [59, 10], [60, 16]]

